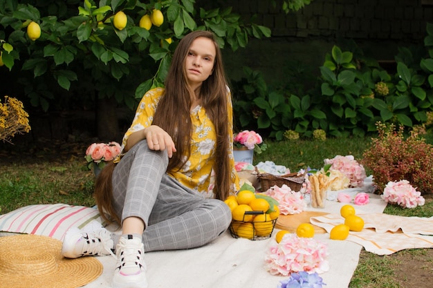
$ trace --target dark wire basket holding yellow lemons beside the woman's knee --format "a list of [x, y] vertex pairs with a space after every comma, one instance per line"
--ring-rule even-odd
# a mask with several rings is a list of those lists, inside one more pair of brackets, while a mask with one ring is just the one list
[[[264, 211], [246, 211], [245, 215], [259, 215], [263, 213]], [[245, 218], [245, 215], [243, 215], [243, 218]], [[264, 240], [272, 236], [272, 232], [275, 228], [275, 223], [277, 223], [277, 220], [278, 218], [263, 222], [232, 220], [232, 222], [230, 223], [229, 231], [234, 238]], [[242, 224], [246, 224], [247, 226], [244, 227], [244, 225]]]

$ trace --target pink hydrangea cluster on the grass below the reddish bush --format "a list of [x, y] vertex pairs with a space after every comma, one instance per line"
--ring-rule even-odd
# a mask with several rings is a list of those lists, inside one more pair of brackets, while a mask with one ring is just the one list
[[383, 189], [382, 199], [387, 203], [398, 204], [404, 208], [415, 208], [425, 204], [421, 192], [416, 191], [407, 180], [388, 182]]

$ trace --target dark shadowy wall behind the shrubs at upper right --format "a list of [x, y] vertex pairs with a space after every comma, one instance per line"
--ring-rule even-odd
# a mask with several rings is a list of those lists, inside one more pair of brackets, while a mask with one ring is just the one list
[[[205, 3], [203, 3], [205, 2]], [[433, 22], [431, 0], [313, 0], [286, 15], [281, 1], [197, 1], [209, 6], [232, 6], [245, 19], [272, 30], [270, 39], [251, 39], [247, 48], [224, 50], [228, 75], [242, 76], [242, 66], [261, 70], [267, 81], [284, 81], [293, 61], [302, 61], [318, 74], [326, 52], [342, 39], [353, 39], [365, 55], [392, 61], [398, 46], [423, 44], [427, 22]]]

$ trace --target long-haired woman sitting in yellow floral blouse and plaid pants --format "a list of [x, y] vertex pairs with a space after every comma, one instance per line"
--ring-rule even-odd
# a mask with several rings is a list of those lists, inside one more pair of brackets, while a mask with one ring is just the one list
[[[165, 88], [142, 97], [120, 159], [95, 183], [101, 215], [118, 222], [122, 236], [93, 224], [71, 229], [62, 255], [108, 255], [117, 242], [113, 287], [147, 287], [144, 251], [199, 247], [228, 229], [231, 213], [221, 200], [239, 189], [230, 96], [212, 32], [186, 35]], [[211, 173], [216, 199], [205, 197]]]

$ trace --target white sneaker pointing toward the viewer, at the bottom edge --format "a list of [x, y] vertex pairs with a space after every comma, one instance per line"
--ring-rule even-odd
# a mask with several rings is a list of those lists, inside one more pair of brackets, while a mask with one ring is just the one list
[[139, 238], [121, 237], [116, 246], [118, 262], [113, 276], [113, 288], [146, 288], [145, 247]]

